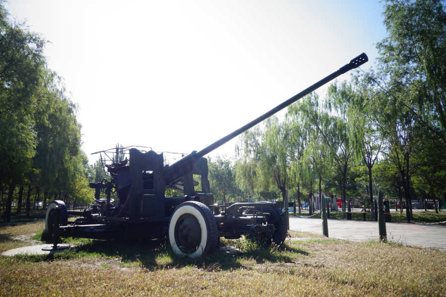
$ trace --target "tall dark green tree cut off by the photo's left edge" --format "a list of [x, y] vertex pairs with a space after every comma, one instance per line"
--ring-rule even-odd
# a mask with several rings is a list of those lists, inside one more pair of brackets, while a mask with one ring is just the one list
[[46, 41], [23, 23], [10, 22], [0, 1], [0, 184], [6, 187], [5, 220], [16, 185], [26, 182], [34, 155], [34, 109], [45, 66]]

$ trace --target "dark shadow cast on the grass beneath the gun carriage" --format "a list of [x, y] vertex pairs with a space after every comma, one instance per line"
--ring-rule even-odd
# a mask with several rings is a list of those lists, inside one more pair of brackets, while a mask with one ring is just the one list
[[[52, 244], [51, 235], [45, 231], [41, 241]], [[233, 270], [252, 266], [253, 263], [292, 263], [299, 255], [307, 256], [308, 252], [290, 247], [286, 243], [280, 247], [266, 246], [262, 243], [240, 239], [226, 241], [222, 245], [235, 247], [235, 253], [218, 250], [200, 258], [187, 258], [173, 253], [167, 239], [158, 240], [91, 240], [91, 239], [63, 239], [60, 244], [72, 244], [77, 251], [64, 251], [49, 255], [17, 255], [15, 258], [30, 261], [70, 260], [81, 257], [102, 259], [119, 259], [119, 266], [141, 267], [149, 270], [172, 269], [194, 266], [207, 271]]]

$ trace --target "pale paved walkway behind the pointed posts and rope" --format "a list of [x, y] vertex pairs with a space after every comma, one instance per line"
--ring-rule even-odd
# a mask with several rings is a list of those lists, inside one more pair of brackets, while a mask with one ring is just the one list
[[[329, 237], [350, 241], [379, 239], [378, 222], [328, 219]], [[289, 229], [322, 234], [321, 218], [289, 217]], [[386, 223], [389, 241], [446, 251], [445, 225]]]

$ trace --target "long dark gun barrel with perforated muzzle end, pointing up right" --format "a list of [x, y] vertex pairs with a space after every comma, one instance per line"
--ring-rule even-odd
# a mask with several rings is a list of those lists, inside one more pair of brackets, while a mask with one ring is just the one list
[[196, 150], [194, 150], [194, 151], [192, 151], [192, 153], [188, 154], [184, 158], [179, 159], [178, 161], [176, 161], [175, 163], [171, 164], [170, 166], [167, 166], [167, 168], [166, 168], [166, 184], [167, 184], [167, 186], [175, 183], [177, 180], [179, 180], [183, 176], [183, 174], [185, 174], [189, 170], [191, 170], [189, 168], [191, 168], [193, 165], [195, 165], [198, 162], [199, 158], [207, 155], [208, 153], [210, 153], [214, 149], [223, 146], [225, 143], [227, 143], [231, 139], [237, 137], [238, 135], [242, 134], [243, 132], [247, 131], [248, 129], [254, 127], [255, 125], [257, 125], [260, 122], [264, 121], [265, 119], [269, 118], [273, 114], [279, 112], [280, 110], [282, 110], [283, 108], [287, 107], [288, 105], [291, 105], [292, 103], [294, 103], [297, 100], [301, 99], [302, 97], [310, 94], [311, 92], [315, 91], [319, 87], [321, 87], [321, 86], [325, 85], [326, 83], [334, 80], [339, 75], [344, 74], [347, 71], [350, 71], [352, 69], [355, 69], [355, 68], [361, 66], [362, 64], [366, 63], [368, 60], [369, 60], [369, 58], [367, 57], [367, 55], [364, 52], [361, 53], [360, 55], [358, 55], [357, 57], [351, 59], [346, 65], [342, 66], [341, 68], [339, 68], [338, 70], [336, 70], [335, 72], [330, 74], [329, 76], [321, 79], [320, 81], [318, 81], [314, 85], [306, 88], [305, 90], [303, 90], [299, 94], [296, 94], [295, 96], [293, 96], [290, 99], [284, 101], [283, 103], [280, 103], [279, 105], [277, 105], [276, 107], [274, 107], [270, 111], [264, 113], [263, 115], [259, 116], [255, 120], [252, 120], [251, 122], [249, 122], [248, 124], [244, 125], [243, 127], [235, 130], [231, 134], [226, 135], [222, 139], [216, 141], [215, 143], [213, 143], [212, 145], [210, 145], [210, 146], [208, 146], [206, 148], [203, 148], [202, 150], [200, 150], [198, 152]]

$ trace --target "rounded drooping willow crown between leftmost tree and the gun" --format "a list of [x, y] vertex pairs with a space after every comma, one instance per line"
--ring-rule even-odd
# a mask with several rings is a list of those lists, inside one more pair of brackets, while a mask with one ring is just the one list
[[51, 70], [46, 72], [38, 99], [34, 166], [41, 175], [39, 187], [56, 197], [68, 192], [77, 175], [84, 175], [77, 106], [67, 96], [61, 78]]

